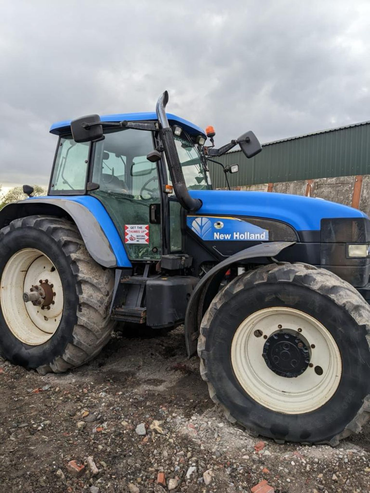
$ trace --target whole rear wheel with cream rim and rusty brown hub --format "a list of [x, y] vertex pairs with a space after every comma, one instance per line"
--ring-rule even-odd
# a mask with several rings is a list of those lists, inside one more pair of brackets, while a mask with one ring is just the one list
[[114, 277], [89, 255], [76, 226], [29, 216], [0, 231], [0, 352], [15, 364], [64, 372], [110, 339]]

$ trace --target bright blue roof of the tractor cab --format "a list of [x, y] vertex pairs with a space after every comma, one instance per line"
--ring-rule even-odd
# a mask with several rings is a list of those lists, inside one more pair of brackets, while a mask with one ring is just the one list
[[[166, 113], [170, 125], [179, 125], [190, 135], [202, 135], [206, 137], [204, 130], [194, 125], [193, 123], [184, 120], [180, 116], [176, 116], [172, 113]], [[116, 115], [104, 115], [100, 117], [103, 122], [120, 122], [120, 121], [145, 121], [145, 120], [157, 120], [157, 115], [154, 111], [143, 113], [118, 113]], [[57, 123], [53, 123], [50, 127], [50, 133], [55, 135], [63, 135], [71, 133], [71, 121], [64, 120]]]

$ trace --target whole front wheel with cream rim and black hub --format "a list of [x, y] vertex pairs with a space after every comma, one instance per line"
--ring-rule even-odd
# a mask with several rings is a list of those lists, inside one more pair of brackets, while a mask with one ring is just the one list
[[277, 442], [329, 443], [370, 417], [370, 307], [324, 269], [271, 264], [212, 301], [202, 378], [227, 418]]

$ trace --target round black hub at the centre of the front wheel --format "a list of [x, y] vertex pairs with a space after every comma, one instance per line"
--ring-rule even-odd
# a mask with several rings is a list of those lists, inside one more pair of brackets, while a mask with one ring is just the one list
[[308, 367], [310, 352], [303, 338], [290, 332], [275, 332], [264, 343], [262, 356], [276, 375], [298, 377]]

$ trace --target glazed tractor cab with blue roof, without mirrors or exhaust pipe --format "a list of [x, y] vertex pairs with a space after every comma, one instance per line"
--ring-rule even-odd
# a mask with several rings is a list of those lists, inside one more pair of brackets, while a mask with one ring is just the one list
[[[206, 140], [204, 132], [175, 115], [168, 118], [187, 189], [210, 189], [203, 146], [198, 143]], [[111, 216], [130, 260], [159, 260], [164, 252], [183, 249], [181, 206], [165, 155], [156, 162], [148, 159], [160, 144], [158, 130], [114, 126], [120, 121], [154, 119], [155, 113], [103, 116], [101, 121], [107, 124], [95, 141], [74, 141], [70, 122], [56, 123], [50, 130], [59, 141], [48, 195], [86, 194], [98, 199]]]

